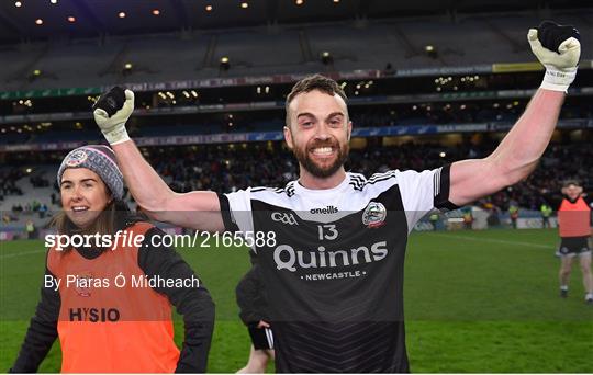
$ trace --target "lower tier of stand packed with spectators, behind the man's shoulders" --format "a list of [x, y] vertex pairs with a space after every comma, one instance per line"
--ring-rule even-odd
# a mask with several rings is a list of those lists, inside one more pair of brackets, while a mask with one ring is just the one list
[[[552, 144], [541, 159], [540, 166], [524, 182], [481, 200], [475, 204], [490, 204], [501, 212], [506, 212], [511, 202], [516, 202], [523, 209], [538, 211], [542, 203], [556, 207], [561, 200], [560, 189], [567, 179], [582, 181], [585, 191], [593, 191], [593, 150], [583, 143]], [[347, 169], [370, 177], [370, 173], [391, 169], [424, 170], [438, 168], [447, 162], [466, 158], [480, 158], [489, 155], [495, 147], [494, 141], [481, 145], [466, 143], [447, 147], [434, 143], [405, 143], [396, 147], [367, 147], [353, 149]], [[441, 155], [444, 152], [444, 156]], [[155, 166], [169, 186], [180, 193], [192, 190], [212, 190], [230, 192], [247, 186], [283, 186], [298, 177], [298, 163], [290, 151], [281, 144], [255, 145], [212, 145], [193, 147], [145, 148], [144, 155]], [[59, 155], [56, 156], [59, 159]], [[580, 160], [581, 162], [573, 162]], [[33, 219], [43, 227], [47, 216], [32, 207], [34, 202], [45, 204], [48, 211], [59, 209], [59, 196], [54, 178], [58, 164], [36, 164], [25, 168], [10, 168], [0, 171], [3, 200], [0, 212], [12, 216], [12, 226], [23, 226]], [[36, 186], [32, 181], [42, 181]], [[45, 182], [43, 182], [45, 181]], [[128, 204], [134, 203], [128, 198]]]

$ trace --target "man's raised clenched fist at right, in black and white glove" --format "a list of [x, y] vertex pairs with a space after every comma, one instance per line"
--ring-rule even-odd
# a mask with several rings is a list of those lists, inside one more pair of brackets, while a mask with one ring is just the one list
[[566, 92], [577, 77], [581, 56], [577, 29], [544, 21], [537, 29], [529, 29], [527, 39], [539, 63], [546, 67], [541, 88]]

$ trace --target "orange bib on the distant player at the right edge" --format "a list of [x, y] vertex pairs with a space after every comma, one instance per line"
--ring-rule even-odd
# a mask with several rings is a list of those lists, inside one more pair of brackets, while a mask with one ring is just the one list
[[560, 237], [591, 236], [591, 208], [582, 197], [571, 203], [563, 200], [558, 209]]

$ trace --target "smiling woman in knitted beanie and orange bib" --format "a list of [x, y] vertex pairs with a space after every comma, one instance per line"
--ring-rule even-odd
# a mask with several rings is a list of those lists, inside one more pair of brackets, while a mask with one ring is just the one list
[[[155, 246], [164, 232], [128, 211], [111, 148], [70, 151], [57, 181], [63, 211], [53, 224], [76, 246], [48, 249], [42, 298], [11, 372], [35, 372], [58, 337], [61, 372], [205, 372], [210, 294], [175, 250]], [[183, 316], [181, 352], [171, 305]]]

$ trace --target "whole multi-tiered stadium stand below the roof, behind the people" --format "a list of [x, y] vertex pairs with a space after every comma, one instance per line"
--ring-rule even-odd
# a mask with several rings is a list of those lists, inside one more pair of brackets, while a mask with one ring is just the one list
[[[107, 11], [107, 5], [98, 7], [98, 12]], [[183, 26], [174, 32], [167, 27], [144, 30], [134, 25], [137, 21], [125, 26], [111, 20], [104, 26], [113, 30], [112, 34], [93, 35], [92, 25], [87, 25], [88, 30], [80, 34], [86, 37], [56, 34], [42, 41], [33, 37], [19, 44], [0, 45], [0, 58], [5, 63], [0, 71], [4, 93], [20, 90], [25, 100], [25, 93], [32, 90], [93, 89], [88, 96], [86, 93], [61, 98], [42, 95], [33, 99], [34, 105], [12, 99], [0, 100], [4, 116], [4, 124], [0, 122], [0, 146], [13, 147], [9, 152], [0, 152], [0, 159], [7, 164], [0, 170], [0, 209], [12, 213], [13, 207], [22, 207], [27, 217], [38, 218], [36, 224], [42, 225], [41, 215], [25, 207], [38, 207], [33, 204], [38, 202], [49, 211], [59, 208], [53, 181], [57, 162], [66, 152], [64, 147], [102, 141], [89, 107], [98, 92], [113, 84], [134, 82], [142, 88], [157, 83], [154, 90], [136, 91], [138, 113], [128, 126], [133, 137], [153, 140], [254, 132], [279, 134], [284, 123], [283, 95], [294, 79], [276, 80], [282, 75], [320, 71], [354, 72], [343, 82], [347, 83], [345, 89], [350, 96], [355, 128], [438, 128], [478, 124], [494, 132], [491, 135], [480, 132], [456, 134], [454, 130], [435, 135], [429, 132], [433, 135], [424, 137], [404, 133], [407, 138], [400, 137], [399, 140], [398, 137], [382, 139], [367, 135], [362, 146], [354, 147], [348, 163], [349, 169], [363, 174], [395, 168], [422, 170], [486, 155], [500, 132], [506, 130], [521, 115], [528, 93], [519, 90], [537, 87], [539, 71], [492, 71], [475, 76], [471, 83], [468, 83], [469, 79], [463, 82], [462, 78], [463, 75], [473, 77], [470, 73], [473, 69], [484, 66], [491, 69], [497, 63], [534, 61], [525, 41], [526, 25], [536, 25], [542, 18], [553, 16], [559, 22], [578, 25], [583, 39], [593, 39], [593, 26], [586, 22], [586, 14], [591, 13], [588, 8], [584, 11], [546, 8], [496, 13], [452, 11], [432, 15], [426, 15], [430, 12], [423, 10], [411, 16], [394, 16], [389, 12], [388, 16], [377, 16], [382, 15], [382, 7], [391, 5], [370, 5], [369, 11], [376, 12], [370, 18], [350, 18], [346, 12], [313, 23], [299, 23], [298, 19], [284, 23], [268, 20], [259, 25], [237, 23], [232, 29]], [[320, 10], [322, 8], [320, 5]], [[280, 13], [286, 11], [280, 10]], [[194, 16], [183, 22], [194, 22]], [[290, 15], [283, 16], [292, 20]], [[35, 33], [32, 31], [31, 35]], [[434, 50], [427, 53], [426, 46], [433, 46]], [[321, 59], [324, 52], [331, 56], [325, 63]], [[223, 56], [230, 58], [228, 70], [219, 66]], [[567, 126], [555, 137], [556, 143], [548, 148], [540, 167], [527, 181], [478, 204], [488, 202], [504, 211], [508, 202], [514, 201], [524, 208], [537, 209], [542, 201], [558, 200], [559, 183], [564, 178], [581, 179], [588, 190], [593, 189], [586, 172], [592, 169], [591, 152], [582, 147], [591, 138], [588, 127], [593, 117], [589, 104], [593, 84], [586, 64], [591, 64], [592, 57], [592, 50], [584, 48], [581, 59], [586, 63], [573, 86], [580, 90], [579, 94], [569, 96], [561, 113]], [[126, 63], [133, 65], [128, 71], [123, 70]], [[38, 76], [32, 75], [35, 69], [41, 71]], [[356, 72], [365, 69], [382, 76], [371, 86], [368, 77], [357, 79]], [[407, 69], [413, 72], [407, 78], [390, 78], [390, 75]], [[429, 72], [421, 72], [422, 69]], [[452, 72], [440, 73], [440, 69]], [[446, 81], [447, 76], [448, 83], [437, 83]], [[250, 77], [259, 77], [258, 83], [249, 83]], [[194, 96], [184, 92], [186, 98], [181, 90], [174, 91], [175, 100], [164, 95], [165, 90], [157, 89], [163, 82], [214, 78], [245, 81], [242, 84], [205, 81], [204, 87], [195, 88], [199, 94]], [[435, 89], [450, 95], [435, 96]], [[195, 111], [198, 106], [200, 110]], [[578, 132], [581, 133], [573, 136]], [[281, 143], [230, 143], [153, 146], [143, 151], [167, 183], [179, 192], [281, 186], [296, 177], [298, 166]], [[42, 154], [26, 148], [47, 145], [59, 145], [59, 148]], [[569, 162], [574, 158], [583, 162]], [[240, 160], [240, 163], [233, 160]], [[26, 172], [26, 168], [32, 172]], [[51, 184], [33, 185], [32, 177], [33, 181], [46, 180]], [[12, 224], [24, 225], [27, 217]]]

